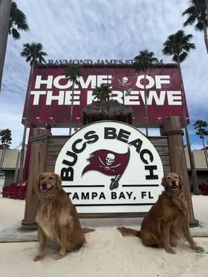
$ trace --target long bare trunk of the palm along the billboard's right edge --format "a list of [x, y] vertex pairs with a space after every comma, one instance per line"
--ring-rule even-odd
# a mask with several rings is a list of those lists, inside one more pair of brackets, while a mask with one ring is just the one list
[[180, 67], [180, 58], [177, 57], [177, 66], [178, 66], [178, 71], [180, 74], [180, 82], [181, 82], [181, 94], [182, 94], [182, 111], [183, 111], [183, 120], [184, 120], [184, 128], [185, 128], [185, 134], [186, 134], [186, 139], [187, 139], [187, 148], [189, 152], [189, 161], [190, 161], [190, 166], [191, 166], [191, 180], [193, 184], [193, 194], [194, 195], [200, 195], [200, 191], [198, 188], [198, 179], [196, 175], [196, 168], [195, 168], [195, 163], [193, 160], [193, 154], [191, 152], [191, 143], [189, 140], [189, 131], [187, 127], [187, 116], [186, 116], [186, 110], [185, 110], [185, 99], [184, 99], [184, 86], [182, 83], [182, 71]]

